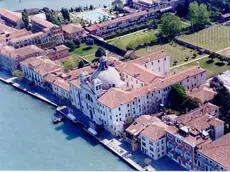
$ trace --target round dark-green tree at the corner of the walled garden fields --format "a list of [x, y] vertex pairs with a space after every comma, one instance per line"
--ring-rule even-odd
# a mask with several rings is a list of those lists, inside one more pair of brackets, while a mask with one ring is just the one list
[[161, 17], [160, 34], [163, 37], [175, 35], [182, 29], [182, 22], [179, 17], [166, 13]]

